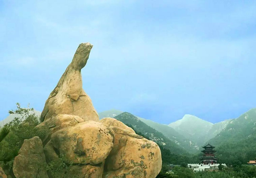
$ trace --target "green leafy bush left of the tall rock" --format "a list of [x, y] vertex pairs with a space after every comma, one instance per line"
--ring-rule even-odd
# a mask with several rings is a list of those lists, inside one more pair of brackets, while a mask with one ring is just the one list
[[[10, 172], [14, 157], [18, 155], [24, 139], [30, 139], [34, 136], [39, 136], [42, 139], [48, 133], [45, 128], [35, 127], [40, 121], [33, 111], [33, 108], [21, 108], [20, 104], [17, 103], [17, 109], [10, 110], [9, 114], [19, 114], [19, 117], [15, 117], [1, 129], [1, 133], [4, 132], [5, 137], [0, 142], [0, 166], [8, 167]], [[7, 131], [8, 134], [6, 135]]]

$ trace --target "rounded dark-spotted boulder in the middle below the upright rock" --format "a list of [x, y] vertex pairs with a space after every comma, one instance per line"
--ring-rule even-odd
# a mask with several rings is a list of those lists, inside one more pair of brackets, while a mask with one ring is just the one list
[[53, 147], [69, 163], [96, 165], [112, 150], [114, 132], [104, 124], [87, 121], [59, 130], [51, 138]]

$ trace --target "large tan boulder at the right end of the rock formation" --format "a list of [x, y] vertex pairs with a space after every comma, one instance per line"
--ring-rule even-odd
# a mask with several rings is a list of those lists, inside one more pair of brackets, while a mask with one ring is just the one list
[[[111, 120], [112, 125], [116, 125], [117, 120]], [[122, 122], [119, 127], [113, 127], [109, 121], [100, 121], [108, 123], [115, 133], [114, 147], [105, 161], [103, 177], [155, 178], [162, 168], [159, 146], [125, 128]]]

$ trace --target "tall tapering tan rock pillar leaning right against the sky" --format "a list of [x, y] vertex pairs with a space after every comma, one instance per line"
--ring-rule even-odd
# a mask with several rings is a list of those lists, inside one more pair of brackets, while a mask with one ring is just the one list
[[56, 114], [76, 115], [86, 120], [99, 121], [90, 97], [82, 88], [81, 69], [86, 65], [91, 49], [90, 43], [78, 46], [72, 62], [45, 102], [41, 122]]

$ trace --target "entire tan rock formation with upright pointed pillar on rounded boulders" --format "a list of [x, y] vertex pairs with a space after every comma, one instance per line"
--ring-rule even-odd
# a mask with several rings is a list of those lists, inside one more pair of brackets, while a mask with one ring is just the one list
[[[90, 43], [78, 46], [72, 62], [45, 102], [41, 123], [37, 126], [50, 130], [43, 139], [44, 147], [39, 141], [33, 143], [37, 140], [35, 137], [24, 141], [14, 160], [15, 176], [29, 171], [36, 174], [25, 166], [29, 163], [24, 161], [32, 160], [34, 151], [28, 151], [28, 145], [38, 146], [35, 156], [40, 156], [43, 162], [42, 149], [47, 163], [59, 159], [60, 155], [65, 157], [66, 163], [71, 165], [68, 177], [155, 178], [160, 172], [161, 151], [155, 142], [137, 135], [116, 119], [99, 121], [90, 97], [82, 89], [81, 69], [86, 65], [91, 48]], [[24, 155], [27, 158], [23, 158]]]

